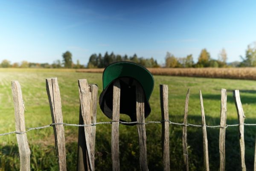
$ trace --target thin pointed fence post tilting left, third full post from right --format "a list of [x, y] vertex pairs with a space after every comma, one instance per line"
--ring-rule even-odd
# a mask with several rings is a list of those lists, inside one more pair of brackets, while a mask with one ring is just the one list
[[201, 114], [202, 114], [202, 128], [203, 128], [203, 150], [204, 150], [204, 169], [209, 171], [209, 156], [208, 156], [208, 140], [207, 140], [207, 131], [206, 131], [206, 122], [204, 116], [204, 104], [201, 90], [200, 94], [200, 104], [201, 104]]

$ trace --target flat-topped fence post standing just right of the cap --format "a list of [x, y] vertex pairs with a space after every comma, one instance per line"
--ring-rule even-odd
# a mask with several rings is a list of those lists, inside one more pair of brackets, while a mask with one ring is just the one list
[[163, 170], [170, 171], [168, 85], [160, 84]]

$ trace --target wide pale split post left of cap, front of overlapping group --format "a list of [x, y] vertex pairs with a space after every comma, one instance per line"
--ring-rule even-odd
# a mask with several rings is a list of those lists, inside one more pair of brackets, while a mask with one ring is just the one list
[[[92, 107], [91, 107], [91, 96], [89, 93], [89, 88], [86, 79], [80, 79], [79, 83], [79, 99], [80, 99], [80, 106], [81, 106], [81, 115], [84, 121], [84, 125], [91, 124], [91, 114], [92, 114]], [[92, 145], [92, 126], [85, 126], [84, 127], [84, 136], [85, 136], [85, 145], [87, 151], [87, 170], [93, 171], [93, 154], [91, 149], [93, 148]]]

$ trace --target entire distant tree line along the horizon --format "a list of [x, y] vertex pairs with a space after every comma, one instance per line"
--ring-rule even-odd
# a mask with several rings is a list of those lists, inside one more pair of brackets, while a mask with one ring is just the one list
[[[187, 67], [256, 67], [256, 42], [251, 43], [247, 46], [245, 50], [245, 56], [240, 56], [241, 62], [235, 61], [232, 63], [227, 63], [227, 52], [225, 49], [221, 49], [218, 54], [218, 59], [211, 58], [207, 49], [202, 49], [198, 57], [198, 61], [195, 63], [193, 56], [187, 55], [186, 57], [177, 58], [170, 52], [166, 53], [165, 65], [162, 67], [172, 67], [172, 68], [187, 68]], [[80, 61], [77, 60], [76, 64], [72, 61], [71, 52], [67, 51], [62, 54], [63, 60], [56, 60], [52, 64], [49, 63], [32, 63], [28, 61], [22, 61], [20, 63], [11, 63], [11, 61], [4, 59], [0, 63], [2, 68], [85, 68], [84, 65], [80, 64]], [[128, 57], [127, 55], [115, 55], [113, 52], [109, 55], [108, 52], [102, 56], [100, 53], [97, 55], [90, 55], [89, 61], [87, 63], [87, 68], [105, 68], [109, 64], [116, 61], [131, 61], [137, 64], [143, 65], [144, 67], [160, 67], [157, 63], [157, 60], [154, 58], [143, 58], [137, 57], [136, 54]]]

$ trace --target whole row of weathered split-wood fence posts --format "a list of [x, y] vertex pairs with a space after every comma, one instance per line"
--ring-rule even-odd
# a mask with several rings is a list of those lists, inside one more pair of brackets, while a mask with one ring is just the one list
[[[78, 171], [94, 171], [94, 153], [95, 153], [95, 137], [96, 137], [96, 106], [98, 87], [94, 84], [87, 84], [86, 79], [78, 81], [79, 98], [80, 98], [80, 115], [79, 115], [79, 138], [78, 138]], [[55, 135], [55, 149], [58, 157], [59, 171], [67, 171], [66, 167], [66, 149], [64, 137], [64, 123], [61, 112], [61, 95], [58, 87], [57, 78], [46, 79], [46, 89], [49, 99], [49, 105], [52, 116], [52, 127]], [[30, 170], [30, 149], [26, 137], [25, 119], [24, 119], [24, 103], [21, 93], [21, 87], [18, 81], [12, 81], [12, 94], [15, 107], [15, 123], [16, 136], [20, 154], [20, 171]], [[204, 168], [209, 171], [208, 142], [207, 142], [207, 126], [204, 116], [204, 105], [201, 90], [201, 116], [203, 130], [203, 150], [204, 150]], [[245, 171], [244, 161], [244, 111], [241, 105], [239, 90], [233, 91], [236, 109], [239, 118], [239, 143], [240, 143], [240, 166]], [[147, 148], [146, 148], [146, 132], [144, 117], [144, 93], [142, 87], [136, 87], [136, 110], [137, 110], [137, 131], [140, 146], [140, 170], [148, 171], [147, 164]], [[169, 111], [168, 111], [168, 86], [160, 85], [160, 104], [162, 111], [162, 159], [163, 170], [170, 170], [170, 154], [169, 154]], [[186, 94], [184, 120], [183, 125], [183, 158], [185, 170], [189, 170], [188, 150], [187, 150], [187, 115], [189, 104], [189, 90]], [[115, 81], [113, 84], [113, 119], [111, 133], [111, 155], [112, 170], [119, 171], [119, 107], [120, 107], [120, 84]], [[220, 153], [220, 171], [225, 170], [225, 130], [227, 118], [227, 91], [221, 89], [221, 122], [219, 134], [219, 153]], [[256, 162], [254, 162], [256, 163]], [[256, 165], [254, 165], [256, 171]]]

